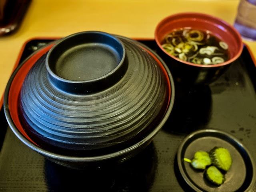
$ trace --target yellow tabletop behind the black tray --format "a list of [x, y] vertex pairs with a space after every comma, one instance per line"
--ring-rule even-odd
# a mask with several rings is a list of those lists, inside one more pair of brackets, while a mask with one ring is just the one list
[[[0, 37], [0, 94], [24, 42], [99, 30], [128, 38], [154, 38], [156, 25], [179, 12], [202, 12], [233, 24], [239, 0], [32, 0], [18, 30]], [[244, 41], [256, 55], [256, 42]]]

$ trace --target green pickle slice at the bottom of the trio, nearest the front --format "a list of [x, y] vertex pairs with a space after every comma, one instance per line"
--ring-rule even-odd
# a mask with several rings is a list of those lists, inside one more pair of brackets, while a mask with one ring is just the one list
[[210, 182], [216, 185], [221, 185], [225, 181], [224, 174], [222, 174], [222, 172], [220, 172], [220, 170], [215, 166], [208, 167], [206, 169], [205, 176]]

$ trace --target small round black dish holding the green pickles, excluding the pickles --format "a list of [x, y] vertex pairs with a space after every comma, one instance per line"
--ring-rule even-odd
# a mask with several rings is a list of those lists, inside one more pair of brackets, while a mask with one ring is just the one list
[[[213, 147], [227, 148], [232, 157], [226, 180], [220, 185], [211, 184], [204, 178], [203, 171], [197, 171], [184, 158], [191, 159], [198, 150], [209, 152]], [[187, 136], [177, 152], [178, 169], [183, 180], [198, 192], [246, 192], [255, 182], [255, 163], [250, 152], [232, 135], [219, 130], [199, 130]]]

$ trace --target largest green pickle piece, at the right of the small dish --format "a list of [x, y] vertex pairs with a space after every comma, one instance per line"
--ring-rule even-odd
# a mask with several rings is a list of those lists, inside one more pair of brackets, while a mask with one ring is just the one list
[[232, 158], [226, 148], [214, 147], [212, 150], [210, 150], [209, 155], [214, 166], [224, 171], [229, 170], [232, 164]]

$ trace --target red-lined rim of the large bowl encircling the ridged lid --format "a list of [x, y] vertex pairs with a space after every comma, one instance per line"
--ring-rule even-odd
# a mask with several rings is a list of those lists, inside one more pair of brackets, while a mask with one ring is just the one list
[[[20, 122], [19, 119], [19, 114], [18, 114], [18, 98], [20, 94], [20, 90], [23, 84], [23, 81], [26, 77], [26, 74], [30, 70], [30, 68], [35, 64], [35, 62], [44, 54], [46, 54], [50, 48], [52, 48], [53, 44], [50, 44], [30, 56], [27, 60], [25, 60], [12, 74], [10, 77], [10, 80], [7, 84], [7, 89], [6, 92], [4, 93], [4, 112], [6, 114], [6, 119], [10, 125], [10, 128], [13, 130], [14, 134], [27, 146], [32, 148], [33, 150], [39, 152], [42, 155], [48, 156], [50, 158], [54, 159], [59, 159], [59, 160], [70, 160], [70, 161], [75, 161], [75, 162], [91, 162], [91, 161], [98, 161], [98, 160], [107, 160], [110, 158], [113, 158], [115, 154], [118, 153], [118, 155], [126, 154], [133, 150], [134, 148], [137, 148], [143, 143], [146, 143], [148, 140], [150, 140], [163, 126], [165, 121], [167, 120], [171, 110], [172, 106], [174, 104], [174, 83], [172, 80], [172, 76], [170, 74], [170, 71], [168, 70], [167, 66], [164, 66], [165, 64], [157, 58], [150, 50], [146, 49], [145, 47], [141, 46], [146, 52], [148, 52], [155, 60], [156, 62], [160, 65], [161, 69], [164, 72], [164, 76], [166, 78], [166, 81], [168, 82], [168, 106], [166, 106], [166, 111], [165, 114], [163, 115], [161, 121], [159, 122], [158, 126], [150, 132], [145, 138], [143, 138], [140, 142], [122, 149], [117, 152], [113, 152], [110, 154], [104, 154], [100, 156], [86, 156], [86, 157], [76, 157], [76, 156], [67, 156], [67, 155], [62, 155], [62, 154], [56, 154], [52, 153], [48, 150], [44, 150], [41, 148], [35, 141], [33, 141], [28, 134], [24, 131], [22, 127], [22, 123]], [[140, 44], [139, 44], [140, 46]]]

